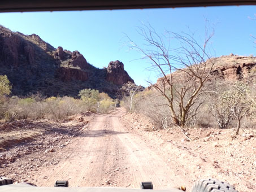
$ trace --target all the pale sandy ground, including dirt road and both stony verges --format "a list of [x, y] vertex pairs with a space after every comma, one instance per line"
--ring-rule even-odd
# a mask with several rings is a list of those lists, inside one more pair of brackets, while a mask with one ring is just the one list
[[215, 177], [240, 192], [256, 190], [254, 130], [231, 139], [232, 130], [194, 129], [190, 137], [198, 138], [188, 142], [175, 129], [153, 126], [122, 108], [41, 122], [35, 138], [0, 151], [0, 175], [37, 186], [68, 180], [70, 186], [138, 189], [141, 181], [152, 181], [154, 189], [184, 185], [187, 191], [199, 178]]

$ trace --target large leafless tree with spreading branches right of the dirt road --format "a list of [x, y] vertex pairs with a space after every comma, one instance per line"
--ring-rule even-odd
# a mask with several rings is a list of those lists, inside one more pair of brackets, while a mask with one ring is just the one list
[[[208, 33], [206, 27], [202, 45], [188, 33], [167, 31], [165, 36], [160, 36], [151, 26], [139, 28], [138, 33], [146, 43], [138, 46], [129, 39], [130, 47], [140, 51], [144, 55], [143, 59], [149, 59], [150, 69], [158, 71], [162, 76], [151, 87], [167, 99], [173, 123], [185, 132], [186, 121], [196, 116], [202, 105], [203, 101], [199, 97], [204, 93], [203, 85], [209, 79], [214, 66], [214, 60], [207, 53], [207, 45], [214, 32], [212, 30]], [[179, 42], [180, 46], [171, 49], [172, 41]]]

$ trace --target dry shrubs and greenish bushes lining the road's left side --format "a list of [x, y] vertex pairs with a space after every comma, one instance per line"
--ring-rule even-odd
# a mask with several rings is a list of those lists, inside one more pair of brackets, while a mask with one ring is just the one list
[[80, 99], [73, 97], [49, 97], [40, 93], [20, 98], [11, 96], [11, 85], [7, 76], [0, 76], [0, 118], [4, 121], [18, 119], [64, 120], [68, 116], [85, 111], [107, 113], [115, 102], [106, 93], [94, 89], [83, 89]]

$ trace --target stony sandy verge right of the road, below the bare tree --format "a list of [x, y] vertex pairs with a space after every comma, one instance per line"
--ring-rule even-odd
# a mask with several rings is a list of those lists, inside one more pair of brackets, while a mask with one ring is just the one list
[[227, 181], [240, 192], [256, 191], [256, 129], [195, 128], [186, 141], [178, 128], [155, 130], [150, 119], [142, 114], [128, 113], [122, 117], [134, 134], [147, 146], [158, 150], [167, 167], [186, 177], [191, 188], [200, 178]]

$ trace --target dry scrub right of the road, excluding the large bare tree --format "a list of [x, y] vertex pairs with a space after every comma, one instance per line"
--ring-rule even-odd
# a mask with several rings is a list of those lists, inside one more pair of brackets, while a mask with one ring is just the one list
[[[240, 128], [254, 128], [255, 124], [255, 85], [248, 82], [222, 82], [208, 85], [207, 94], [198, 100], [201, 103], [196, 115], [186, 121], [186, 132], [191, 128], [235, 128], [239, 134]], [[215, 87], [212, 90], [212, 87]], [[206, 88], [205, 88], [206, 89]], [[210, 91], [211, 90], [211, 91]], [[176, 99], [176, 98], [174, 98]], [[138, 112], [150, 117], [157, 129], [167, 129], [177, 126], [173, 122], [168, 102], [154, 88], [134, 95], [131, 112]], [[122, 105], [129, 110], [128, 99], [123, 99]]]

